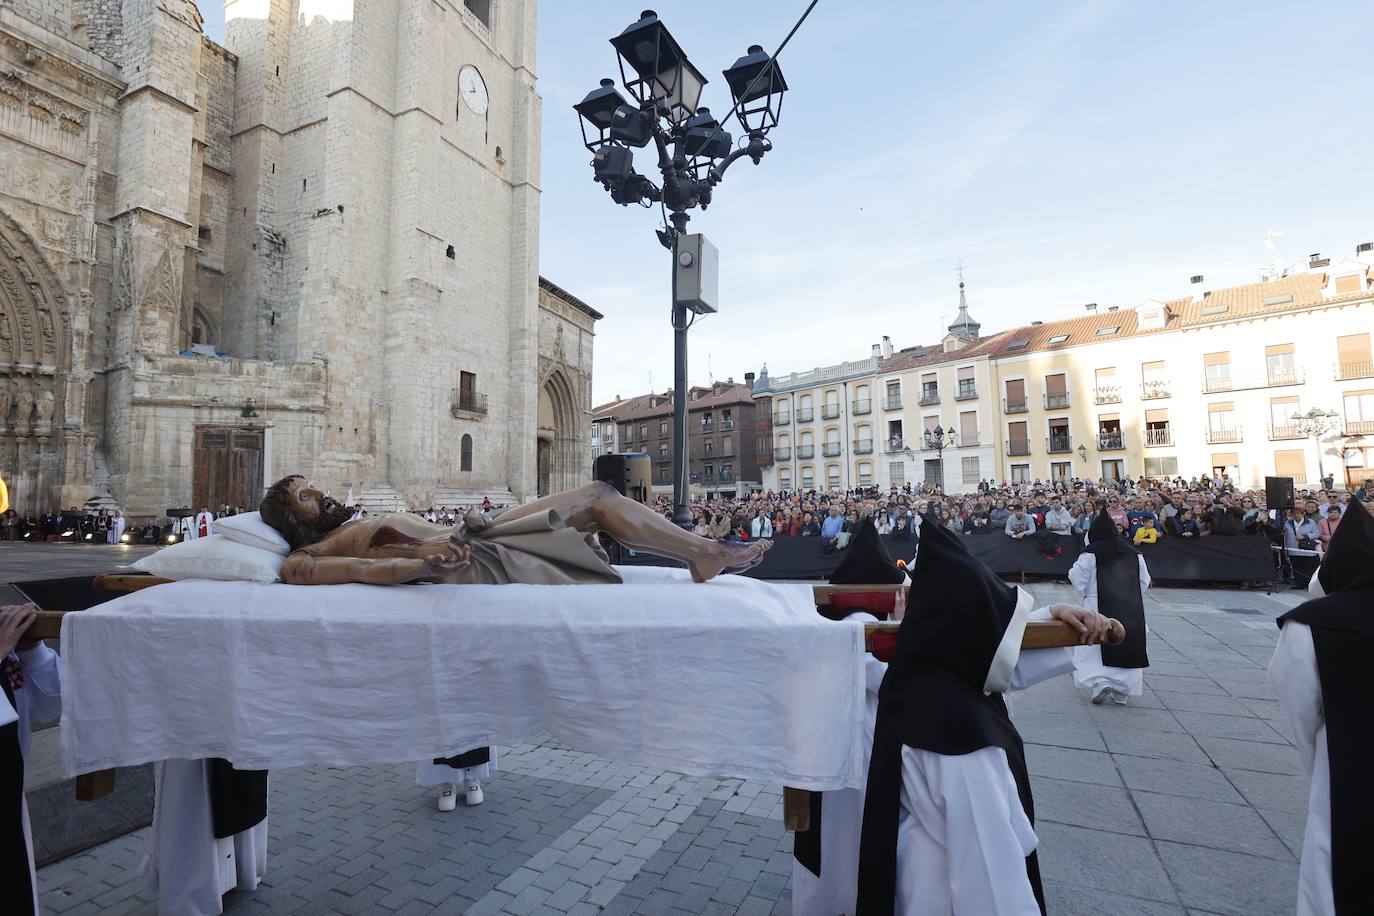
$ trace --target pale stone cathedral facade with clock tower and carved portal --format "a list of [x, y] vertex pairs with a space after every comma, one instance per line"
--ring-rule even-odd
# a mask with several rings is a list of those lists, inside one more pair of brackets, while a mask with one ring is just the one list
[[12, 504], [585, 481], [600, 316], [539, 276], [534, 27], [534, 0], [228, 0], [220, 47], [191, 0], [0, 5]]

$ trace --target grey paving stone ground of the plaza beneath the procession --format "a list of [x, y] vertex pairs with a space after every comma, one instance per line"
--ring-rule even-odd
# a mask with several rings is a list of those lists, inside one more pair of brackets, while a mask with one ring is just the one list
[[[1035, 585], [1039, 603], [1068, 586]], [[1307, 780], [1265, 678], [1300, 595], [1153, 589], [1146, 692], [1014, 695], [1050, 912], [1292, 913]], [[787, 913], [782, 791], [545, 740], [504, 748], [486, 803], [434, 810], [414, 765], [272, 781], [268, 879], [229, 913]], [[146, 831], [44, 868], [44, 912], [147, 913]]]

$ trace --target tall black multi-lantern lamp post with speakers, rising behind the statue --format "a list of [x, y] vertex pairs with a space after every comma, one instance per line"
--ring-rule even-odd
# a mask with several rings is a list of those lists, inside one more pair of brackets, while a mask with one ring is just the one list
[[[716, 310], [716, 250], [701, 235], [687, 236], [688, 210], [710, 206], [725, 169], [742, 157], [758, 165], [772, 148], [768, 132], [778, 126], [787, 82], [778, 62], [760, 45], [752, 45], [724, 71], [734, 104], [717, 121], [699, 104], [706, 77], [653, 10], [640, 14], [610, 44], [620, 58], [621, 82], [635, 104], [607, 78], [573, 108], [581, 118], [583, 144], [592, 152], [594, 179], [610, 192], [611, 201], [621, 206], [658, 203], [666, 214], [658, 240], [673, 258], [673, 522], [691, 527], [687, 328], [698, 316]], [[731, 115], [746, 133], [746, 143], [738, 148], [724, 129]], [[635, 172], [632, 148], [650, 143], [662, 179], [658, 184]]]

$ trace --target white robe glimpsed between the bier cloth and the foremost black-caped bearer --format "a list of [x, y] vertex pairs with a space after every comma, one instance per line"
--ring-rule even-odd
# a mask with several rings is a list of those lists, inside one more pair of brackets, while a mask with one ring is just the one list
[[[877, 621], [864, 611], [855, 611], [846, 621]], [[868, 769], [872, 754], [872, 728], [878, 717], [878, 688], [888, 663], [872, 655], [864, 659], [864, 744], [863, 768]], [[844, 788], [820, 795], [820, 875], [791, 861], [793, 916], [835, 916], [852, 913], [857, 906], [859, 836], [863, 834], [863, 801], [866, 790]]]

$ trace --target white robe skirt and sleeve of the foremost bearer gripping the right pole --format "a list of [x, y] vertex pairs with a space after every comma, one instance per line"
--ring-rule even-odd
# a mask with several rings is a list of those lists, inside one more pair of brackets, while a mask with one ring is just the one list
[[[1050, 619], [1050, 608], [1026, 619]], [[1021, 652], [1014, 665], [1010, 689], [1025, 689], [1070, 672], [1073, 650]], [[1025, 867], [1037, 845], [1004, 750], [949, 755], [901, 748], [897, 913], [1039, 916]]]

